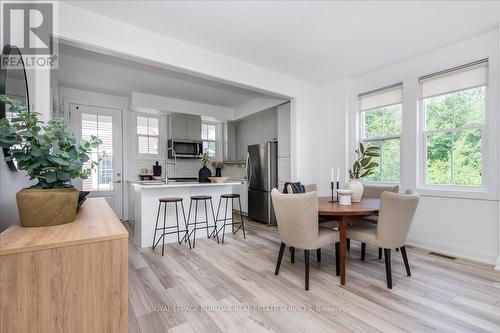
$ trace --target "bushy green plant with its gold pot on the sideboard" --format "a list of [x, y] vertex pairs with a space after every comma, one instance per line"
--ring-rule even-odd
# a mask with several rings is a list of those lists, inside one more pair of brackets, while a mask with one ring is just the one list
[[17, 162], [35, 184], [17, 192], [16, 200], [22, 226], [39, 227], [69, 223], [75, 220], [78, 190], [71, 185], [75, 178], [87, 179], [98, 162], [89, 161], [89, 153], [101, 140], [77, 142], [62, 119], [46, 124], [40, 113], [29, 111], [20, 101], [0, 96], [9, 106], [13, 118], [0, 119], [0, 147], [7, 148], [6, 160]]

